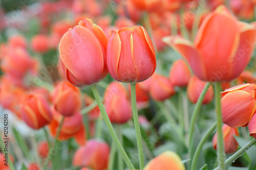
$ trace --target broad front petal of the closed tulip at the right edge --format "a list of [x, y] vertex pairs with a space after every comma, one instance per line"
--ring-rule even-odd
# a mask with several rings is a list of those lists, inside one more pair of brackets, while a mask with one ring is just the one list
[[227, 93], [221, 100], [223, 123], [232, 128], [244, 126], [255, 112], [255, 104], [255, 99], [246, 91]]

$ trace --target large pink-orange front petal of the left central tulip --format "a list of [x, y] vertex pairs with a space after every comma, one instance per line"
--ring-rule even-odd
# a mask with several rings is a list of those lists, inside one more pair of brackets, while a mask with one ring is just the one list
[[82, 26], [68, 31], [60, 40], [63, 64], [84, 84], [98, 82], [103, 74], [103, 54], [94, 34]]

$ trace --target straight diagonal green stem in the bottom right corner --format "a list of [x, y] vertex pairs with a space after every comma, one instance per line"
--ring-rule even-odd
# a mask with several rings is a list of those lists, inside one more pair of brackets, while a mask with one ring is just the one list
[[[230, 163], [234, 162], [237, 160], [242, 154], [244, 154], [250, 147], [252, 147], [256, 143], [256, 139], [253, 138], [250, 140], [248, 143], [246, 143], [238, 152], [234, 153], [232, 156], [230, 156], [226, 161], [225, 161], [225, 166], [228, 166]], [[219, 166], [216, 167], [214, 170], [219, 169]]]

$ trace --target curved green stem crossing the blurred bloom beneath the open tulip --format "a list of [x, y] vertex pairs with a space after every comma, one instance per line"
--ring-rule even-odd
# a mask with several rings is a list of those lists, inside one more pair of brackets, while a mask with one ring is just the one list
[[196, 103], [196, 106], [194, 108], [194, 111], [192, 113], [192, 117], [191, 117], [191, 121], [190, 121], [190, 127], [189, 127], [189, 152], [191, 152], [191, 148], [193, 146], [193, 134], [194, 134], [194, 130], [195, 130], [195, 125], [196, 125], [196, 120], [199, 114], [199, 110], [201, 108], [201, 105], [203, 103], [204, 100], [204, 96], [208, 90], [208, 88], [210, 87], [211, 83], [206, 83], [198, 100]]

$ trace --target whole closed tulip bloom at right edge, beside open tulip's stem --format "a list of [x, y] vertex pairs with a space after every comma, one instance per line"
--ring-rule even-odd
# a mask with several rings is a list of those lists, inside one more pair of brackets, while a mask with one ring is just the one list
[[255, 84], [242, 84], [221, 93], [223, 123], [238, 128], [246, 126], [256, 112]]

